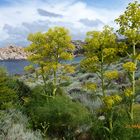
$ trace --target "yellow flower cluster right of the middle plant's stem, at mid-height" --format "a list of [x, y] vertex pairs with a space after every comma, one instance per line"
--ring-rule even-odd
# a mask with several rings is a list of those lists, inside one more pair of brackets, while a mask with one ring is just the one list
[[106, 71], [104, 76], [109, 80], [113, 80], [113, 79], [117, 79], [119, 77], [119, 74], [117, 70], [113, 70], [113, 71]]

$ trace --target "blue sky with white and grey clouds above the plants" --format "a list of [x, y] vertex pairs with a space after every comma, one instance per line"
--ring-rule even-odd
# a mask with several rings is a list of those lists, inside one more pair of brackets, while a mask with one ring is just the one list
[[117, 28], [114, 19], [133, 0], [0, 0], [0, 47], [26, 46], [29, 33], [64, 26], [73, 39], [104, 25]]

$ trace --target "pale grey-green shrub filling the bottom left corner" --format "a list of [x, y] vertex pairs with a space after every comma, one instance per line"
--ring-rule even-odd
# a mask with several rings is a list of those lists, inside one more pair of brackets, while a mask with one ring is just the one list
[[43, 140], [39, 131], [27, 128], [28, 119], [20, 111], [1, 111], [0, 118], [1, 140]]

